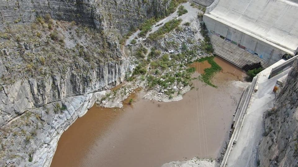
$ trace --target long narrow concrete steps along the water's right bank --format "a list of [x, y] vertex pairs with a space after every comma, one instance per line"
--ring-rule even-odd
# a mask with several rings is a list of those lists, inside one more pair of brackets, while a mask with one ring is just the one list
[[227, 151], [224, 154], [224, 159], [221, 163], [221, 167], [224, 167], [228, 161], [228, 156], [232, 150], [233, 144], [237, 143], [238, 136], [240, 134], [240, 131], [242, 129], [242, 123], [245, 118], [245, 114], [247, 109], [249, 108], [251, 97], [253, 96], [253, 93], [255, 92], [255, 85], [257, 83], [257, 80], [259, 78], [259, 75], [256, 75], [254, 79], [251, 82], [251, 85], [248, 86], [243, 92], [242, 96], [240, 98], [240, 101], [238, 103], [238, 106], [235, 111], [235, 117], [233, 119], [233, 130], [232, 130], [232, 137], [230, 139], [230, 142], [227, 147]]

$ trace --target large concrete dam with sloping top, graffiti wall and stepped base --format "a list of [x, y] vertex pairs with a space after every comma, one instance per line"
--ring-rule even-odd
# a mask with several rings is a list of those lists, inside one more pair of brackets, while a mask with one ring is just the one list
[[297, 11], [298, 0], [215, 0], [203, 21], [215, 54], [242, 69], [254, 63], [267, 68], [297, 54]]

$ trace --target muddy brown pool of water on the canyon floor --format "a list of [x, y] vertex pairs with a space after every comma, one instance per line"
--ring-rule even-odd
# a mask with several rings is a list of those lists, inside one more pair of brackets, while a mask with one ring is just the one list
[[242, 92], [230, 83], [242, 80], [243, 72], [214, 60], [223, 68], [213, 79], [218, 88], [196, 80], [181, 101], [145, 100], [141, 90], [123, 109], [93, 106], [62, 134], [51, 166], [158, 167], [194, 156], [218, 157]]

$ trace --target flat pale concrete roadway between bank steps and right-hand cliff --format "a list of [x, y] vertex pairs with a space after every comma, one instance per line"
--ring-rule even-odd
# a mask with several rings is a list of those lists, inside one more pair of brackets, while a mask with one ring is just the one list
[[233, 145], [226, 166], [257, 166], [257, 150], [263, 133], [263, 113], [273, 107], [275, 101], [273, 87], [276, 81], [284, 75], [287, 75], [290, 69], [283, 71], [281, 74], [276, 75], [272, 79], [268, 79], [268, 76], [272, 68], [278, 66], [282, 62], [284, 61], [281, 60], [260, 73], [259, 79], [256, 83], [258, 91], [252, 97], [251, 105], [249, 109], [247, 109], [239, 138], [237, 143]]

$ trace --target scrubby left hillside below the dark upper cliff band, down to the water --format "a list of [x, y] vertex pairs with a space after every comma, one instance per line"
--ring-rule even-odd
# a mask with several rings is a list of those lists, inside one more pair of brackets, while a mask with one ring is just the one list
[[44, 21], [0, 34], [0, 165], [49, 166], [63, 131], [135, 67], [114, 34]]

